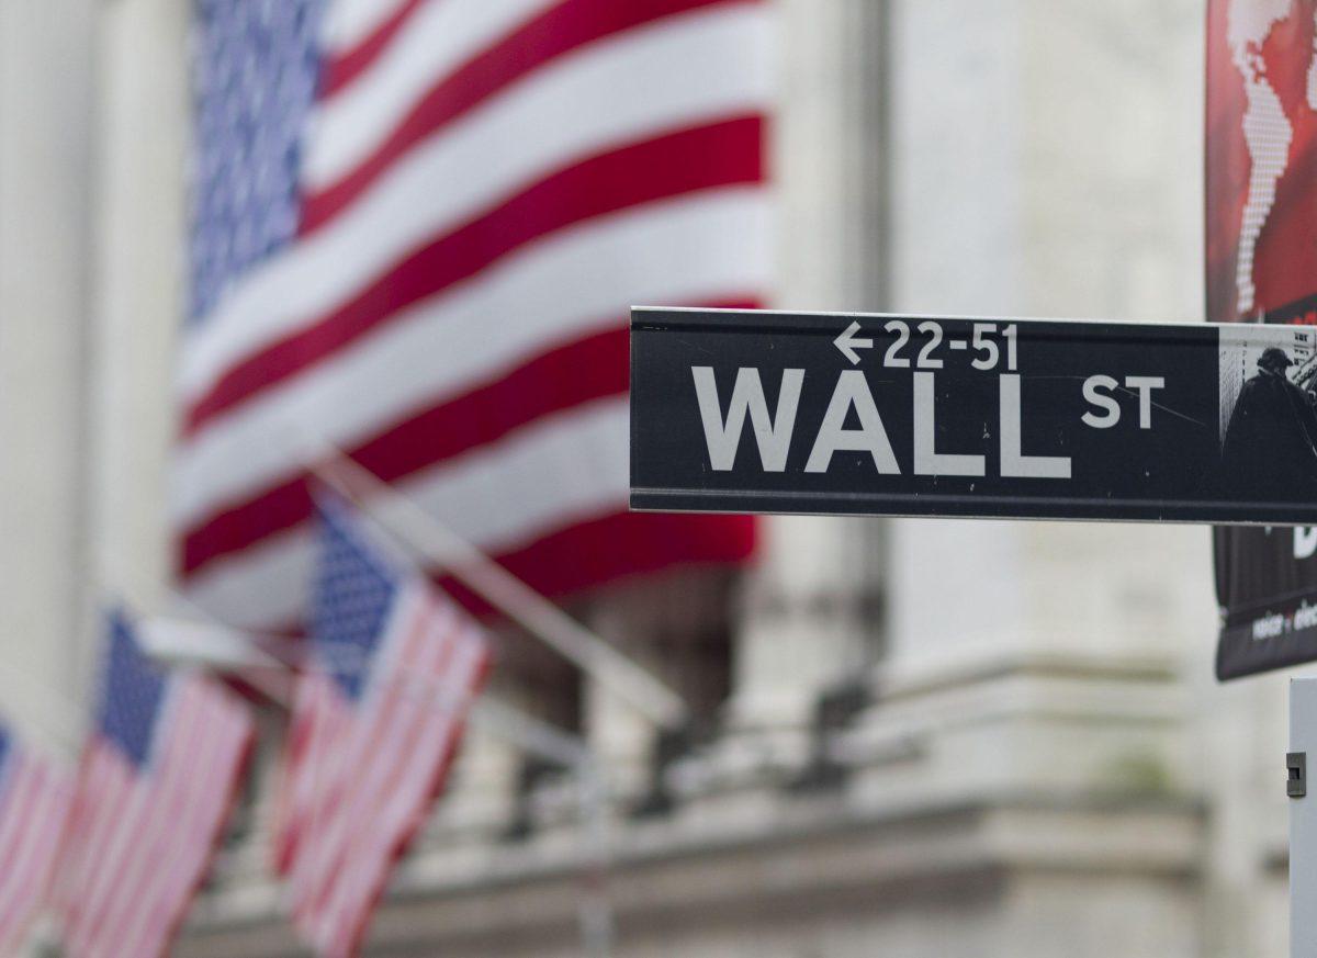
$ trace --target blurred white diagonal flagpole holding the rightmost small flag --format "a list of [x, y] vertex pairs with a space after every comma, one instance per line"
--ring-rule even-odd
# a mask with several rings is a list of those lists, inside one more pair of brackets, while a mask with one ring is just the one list
[[[386, 508], [371, 512], [375, 521], [651, 721], [665, 729], [685, 724], [686, 703], [672, 688], [345, 451], [316, 440], [306, 465], [312, 475], [362, 508], [363, 500], [382, 501]], [[383, 515], [392, 515], [395, 521], [386, 521]]]

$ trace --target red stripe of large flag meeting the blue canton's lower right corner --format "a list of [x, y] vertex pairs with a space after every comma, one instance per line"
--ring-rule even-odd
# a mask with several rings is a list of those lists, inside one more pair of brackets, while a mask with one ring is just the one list
[[365, 162], [333, 186], [307, 196], [302, 232], [324, 226], [417, 142], [549, 61], [674, 13], [745, 1], [566, 0], [558, 4], [445, 76]]

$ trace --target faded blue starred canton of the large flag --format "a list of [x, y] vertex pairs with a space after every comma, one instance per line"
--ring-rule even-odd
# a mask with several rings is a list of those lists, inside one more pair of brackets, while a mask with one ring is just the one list
[[192, 320], [287, 245], [324, 0], [194, 0]]

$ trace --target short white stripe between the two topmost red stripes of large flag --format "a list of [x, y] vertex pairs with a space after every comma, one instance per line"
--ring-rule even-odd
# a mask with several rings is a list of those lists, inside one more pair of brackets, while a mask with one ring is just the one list
[[389, 50], [312, 114], [307, 189], [324, 189], [352, 172], [440, 78], [554, 3], [444, 0], [414, 13]]

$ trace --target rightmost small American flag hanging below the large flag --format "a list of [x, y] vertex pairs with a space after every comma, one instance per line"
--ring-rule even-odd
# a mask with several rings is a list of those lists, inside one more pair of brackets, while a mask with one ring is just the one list
[[319, 512], [277, 847], [299, 932], [320, 954], [346, 955], [440, 790], [489, 645], [349, 507], [331, 499]]

